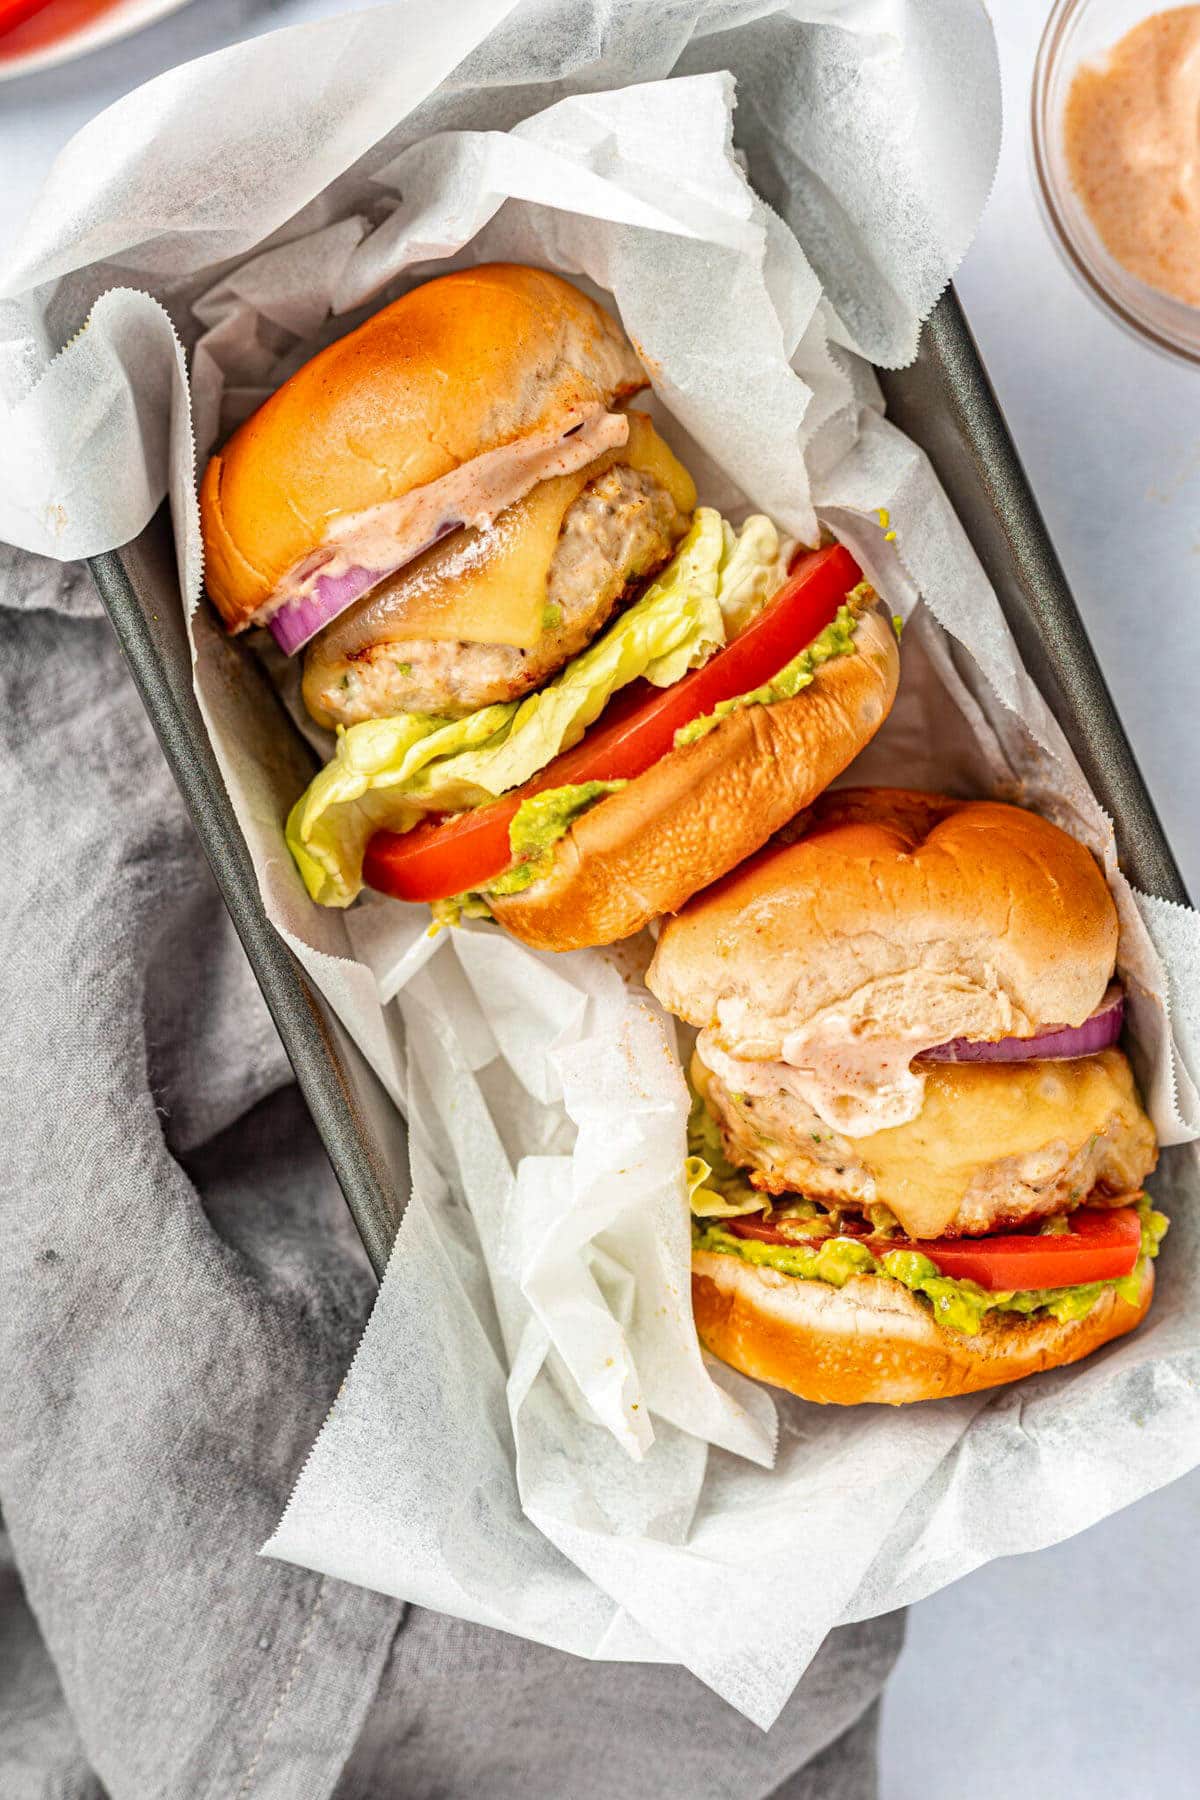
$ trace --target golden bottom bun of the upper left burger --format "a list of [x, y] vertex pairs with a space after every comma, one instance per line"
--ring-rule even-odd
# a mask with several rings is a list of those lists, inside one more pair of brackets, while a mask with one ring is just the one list
[[795, 698], [727, 715], [585, 812], [547, 877], [489, 900], [497, 920], [536, 949], [579, 950], [675, 913], [853, 761], [887, 718], [898, 679], [896, 635], [873, 608], [855, 652], [822, 662]]

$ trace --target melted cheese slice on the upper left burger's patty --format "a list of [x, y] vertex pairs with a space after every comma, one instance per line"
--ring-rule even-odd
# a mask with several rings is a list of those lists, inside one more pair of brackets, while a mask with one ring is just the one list
[[613, 463], [653, 475], [682, 513], [696, 488], [644, 412], [630, 412], [630, 437], [619, 450], [572, 475], [538, 482], [484, 531], [455, 531], [374, 590], [374, 643], [511, 644], [531, 650], [543, 632], [545, 587], [563, 518], [590, 481]]

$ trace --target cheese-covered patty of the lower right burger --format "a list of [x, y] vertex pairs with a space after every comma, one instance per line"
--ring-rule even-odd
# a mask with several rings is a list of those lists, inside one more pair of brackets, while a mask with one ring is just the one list
[[[925, 1118], [871, 1138], [831, 1130], [793, 1093], [730, 1091], [700, 1057], [693, 1082], [725, 1154], [750, 1170], [756, 1188], [842, 1208], [882, 1202], [910, 1237], [959, 1237], [1139, 1192], [1157, 1147], [1128, 1064], [1119, 1051], [1079, 1060], [1094, 1067], [1063, 1075], [1063, 1064], [941, 1066], [927, 1076]], [[988, 1127], [988, 1102], [1004, 1102], [1006, 1080], [1015, 1084], [1009, 1098], [1016, 1111], [1025, 1111], [1038, 1084], [1047, 1089], [1043, 1141], [1007, 1156], [997, 1154]], [[1076, 1087], [1067, 1091], [1079, 1080], [1087, 1080], [1085, 1098]]]

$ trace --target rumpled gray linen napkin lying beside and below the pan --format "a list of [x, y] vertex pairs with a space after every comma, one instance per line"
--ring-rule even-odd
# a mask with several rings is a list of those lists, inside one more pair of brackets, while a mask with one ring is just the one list
[[374, 1283], [86, 572], [2, 545], [0, 828], [4, 1800], [869, 1800], [898, 1616], [763, 1735], [257, 1557]]

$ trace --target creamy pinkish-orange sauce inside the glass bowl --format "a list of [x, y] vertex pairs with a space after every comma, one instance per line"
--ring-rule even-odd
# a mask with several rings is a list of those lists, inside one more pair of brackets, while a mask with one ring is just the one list
[[1079, 70], [1063, 142], [1117, 263], [1200, 306], [1200, 5], [1155, 13]]

